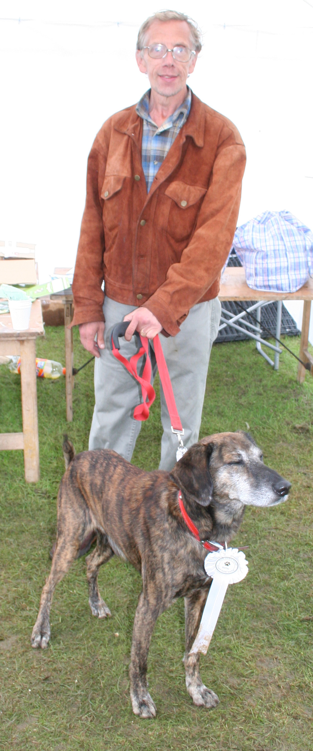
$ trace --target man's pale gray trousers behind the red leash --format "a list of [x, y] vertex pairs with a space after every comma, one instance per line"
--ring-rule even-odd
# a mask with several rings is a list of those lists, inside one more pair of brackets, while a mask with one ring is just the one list
[[[135, 306], [116, 303], [105, 297], [103, 313], [106, 319], [105, 344], [94, 362], [95, 406], [89, 436], [89, 449], [111, 448], [131, 460], [141, 422], [134, 420], [133, 411], [142, 402], [139, 383], [118, 362], [110, 347], [112, 327], [123, 321], [124, 315]], [[176, 336], [159, 339], [165, 356], [178, 415], [184, 428], [186, 448], [198, 441], [201, 413], [207, 380], [207, 366], [216, 339], [221, 305], [219, 300], [199, 303], [190, 311]], [[136, 339], [120, 339], [121, 354], [129, 359], [137, 351]], [[153, 378], [156, 360], [152, 353]], [[139, 369], [138, 369], [139, 372]], [[171, 433], [168, 409], [160, 384], [162, 442], [159, 469], [170, 470], [176, 463], [177, 436]]]

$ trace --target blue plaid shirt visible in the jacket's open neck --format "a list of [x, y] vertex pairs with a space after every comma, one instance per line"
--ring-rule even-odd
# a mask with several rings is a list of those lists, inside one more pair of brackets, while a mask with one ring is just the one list
[[174, 114], [158, 126], [149, 115], [150, 89], [145, 92], [136, 107], [136, 113], [142, 117], [142, 169], [145, 173], [147, 191], [151, 189], [157, 170], [168, 154], [172, 143], [186, 122], [191, 107], [191, 89], [187, 86], [186, 99]]

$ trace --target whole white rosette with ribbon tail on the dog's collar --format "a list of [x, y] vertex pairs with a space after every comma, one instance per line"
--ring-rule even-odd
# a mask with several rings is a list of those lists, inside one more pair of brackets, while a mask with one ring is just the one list
[[208, 553], [204, 560], [204, 569], [213, 581], [204, 605], [198, 634], [189, 654], [207, 654], [228, 584], [236, 584], [245, 578], [248, 573], [248, 561], [242, 550], [228, 547], [227, 550]]

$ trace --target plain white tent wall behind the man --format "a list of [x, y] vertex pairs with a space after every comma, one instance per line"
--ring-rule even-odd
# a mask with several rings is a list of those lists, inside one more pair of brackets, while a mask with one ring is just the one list
[[[288, 209], [312, 228], [313, 0], [170, 5], [204, 35], [190, 86], [246, 143], [238, 223]], [[36, 243], [41, 278], [75, 261], [88, 152], [104, 120], [148, 88], [134, 50], [158, 9], [151, 0], [1, 2], [0, 239]]]

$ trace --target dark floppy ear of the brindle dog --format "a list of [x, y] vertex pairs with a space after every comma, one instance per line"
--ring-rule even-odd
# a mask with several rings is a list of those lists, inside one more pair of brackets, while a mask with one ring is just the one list
[[209, 506], [213, 499], [213, 481], [209, 469], [212, 451], [213, 443], [205, 446], [195, 443], [171, 471], [180, 490], [192, 496], [192, 500], [201, 506]]

